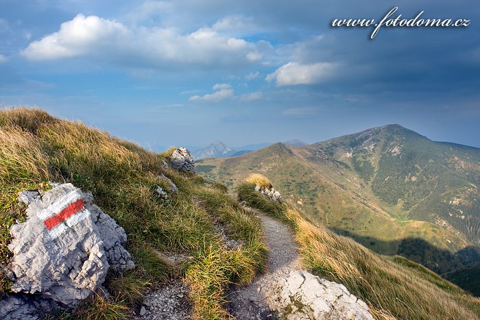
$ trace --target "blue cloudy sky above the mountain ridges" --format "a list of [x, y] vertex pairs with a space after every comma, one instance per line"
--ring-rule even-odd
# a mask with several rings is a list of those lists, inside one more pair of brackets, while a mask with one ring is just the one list
[[[375, 19], [468, 27], [331, 27]], [[398, 123], [480, 147], [480, 6], [417, 0], [0, 0], [0, 106], [36, 106], [150, 149]]]

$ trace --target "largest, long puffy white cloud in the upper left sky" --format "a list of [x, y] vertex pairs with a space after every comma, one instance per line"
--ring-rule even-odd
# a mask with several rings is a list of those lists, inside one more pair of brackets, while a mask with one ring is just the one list
[[31, 42], [21, 54], [29, 60], [88, 56], [153, 68], [171, 64], [235, 66], [258, 61], [259, 43], [223, 32], [228, 29], [226, 23], [220, 21], [214, 27], [181, 34], [175, 28], [128, 27], [99, 16], [78, 14], [62, 23], [58, 32]]

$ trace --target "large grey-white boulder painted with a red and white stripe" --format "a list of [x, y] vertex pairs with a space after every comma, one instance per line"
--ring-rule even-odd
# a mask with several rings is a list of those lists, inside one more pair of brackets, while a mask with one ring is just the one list
[[12, 291], [75, 306], [101, 286], [109, 269], [134, 267], [127, 235], [93, 204], [93, 195], [61, 184], [40, 195], [22, 193], [27, 221], [12, 225]]

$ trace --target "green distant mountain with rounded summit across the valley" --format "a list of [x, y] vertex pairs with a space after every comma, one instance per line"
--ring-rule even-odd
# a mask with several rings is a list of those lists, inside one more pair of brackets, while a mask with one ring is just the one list
[[387, 125], [305, 147], [275, 144], [202, 160], [197, 168], [230, 187], [251, 171], [263, 173], [304, 217], [445, 273], [480, 258], [475, 247], [465, 249], [479, 244], [479, 164], [480, 149]]

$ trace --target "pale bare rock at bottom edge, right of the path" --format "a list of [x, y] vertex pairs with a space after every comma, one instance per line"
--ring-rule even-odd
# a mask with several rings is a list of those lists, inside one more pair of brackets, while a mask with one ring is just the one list
[[307, 271], [291, 271], [278, 280], [267, 302], [280, 319], [374, 319], [367, 304], [350, 294], [343, 284]]

